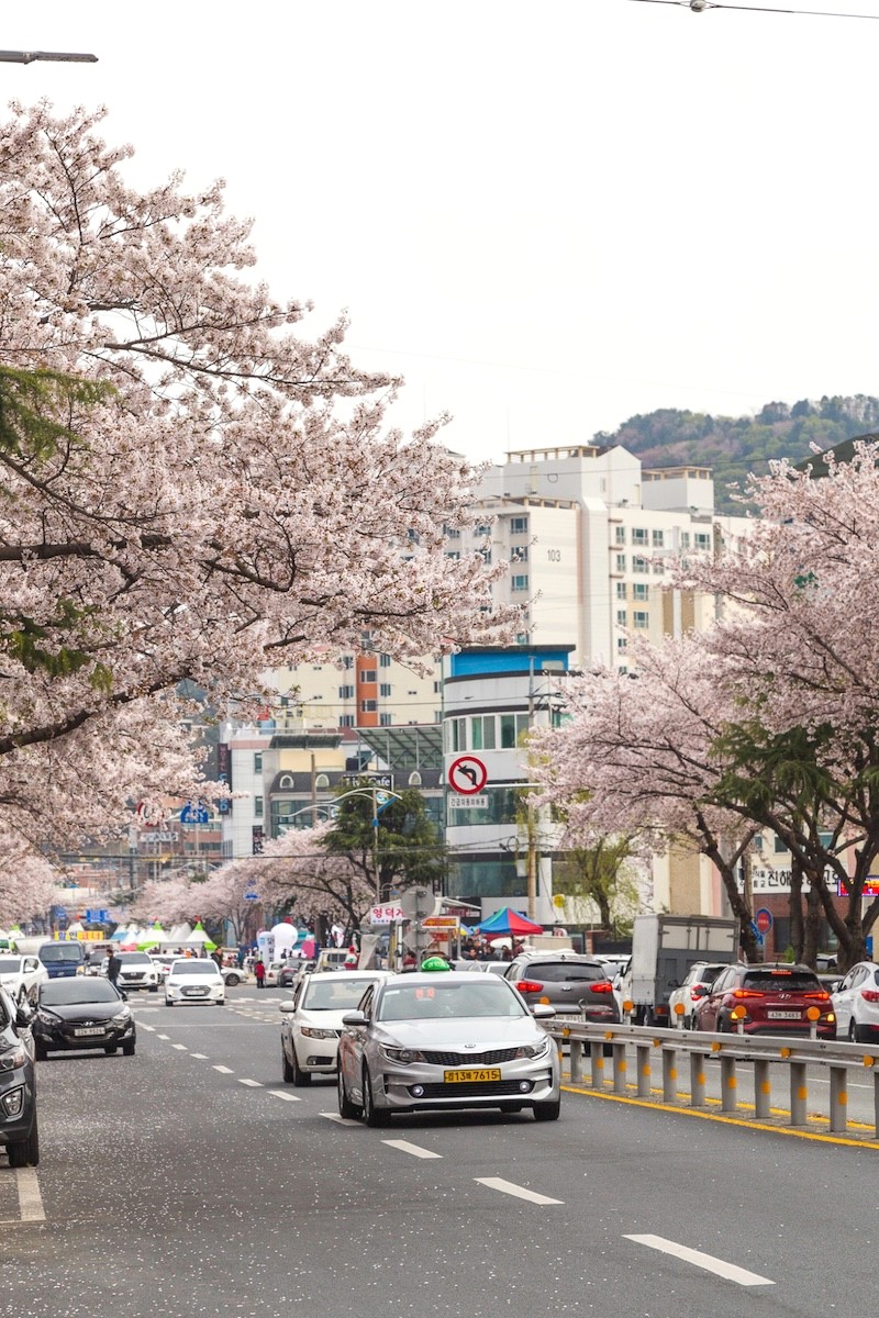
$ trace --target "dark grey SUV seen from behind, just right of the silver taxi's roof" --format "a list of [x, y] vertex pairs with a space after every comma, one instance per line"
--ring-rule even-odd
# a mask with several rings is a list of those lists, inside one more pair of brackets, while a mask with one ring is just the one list
[[506, 970], [528, 1006], [548, 1003], [556, 1017], [588, 1020], [600, 1025], [619, 1021], [619, 1006], [608, 966], [577, 952], [526, 952]]

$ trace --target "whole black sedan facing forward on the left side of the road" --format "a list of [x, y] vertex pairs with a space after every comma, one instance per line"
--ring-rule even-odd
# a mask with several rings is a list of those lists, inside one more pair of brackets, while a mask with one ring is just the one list
[[108, 979], [76, 975], [41, 985], [33, 1023], [37, 1060], [72, 1048], [123, 1049], [134, 1056], [136, 1029], [130, 1007]]

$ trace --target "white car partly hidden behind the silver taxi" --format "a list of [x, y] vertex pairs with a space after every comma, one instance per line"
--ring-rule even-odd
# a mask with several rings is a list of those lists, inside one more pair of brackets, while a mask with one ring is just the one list
[[387, 970], [335, 970], [303, 977], [293, 999], [281, 1003], [281, 1064], [289, 1085], [308, 1085], [315, 1074], [335, 1075], [341, 1017], [354, 1011], [370, 983], [387, 975]]

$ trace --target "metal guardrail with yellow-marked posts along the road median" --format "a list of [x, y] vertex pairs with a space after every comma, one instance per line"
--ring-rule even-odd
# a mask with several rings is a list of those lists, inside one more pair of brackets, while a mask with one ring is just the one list
[[[796, 1039], [759, 1035], [709, 1035], [689, 1029], [651, 1029], [647, 1025], [593, 1025], [576, 1021], [546, 1021], [547, 1032], [561, 1043], [571, 1044], [571, 1081], [582, 1082], [582, 1066], [588, 1058], [592, 1086], [613, 1094], [629, 1093], [629, 1060], [626, 1050], [635, 1050], [638, 1098], [652, 1099], [651, 1056], [659, 1049], [663, 1060], [663, 1102], [680, 1107], [677, 1093], [679, 1057], [689, 1058], [689, 1106], [708, 1107], [705, 1091], [705, 1062], [720, 1060], [721, 1111], [737, 1112], [738, 1075], [741, 1064], [754, 1068], [754, 1119], [771, 1118], [771, 1066], [787, 1066], [789, 1072], [791, 1126], [807, 1124], [809, 1101], [809, 1068], [830, 1073], [830, 1124], [834, 1135], [849, 1128], [849, 1075], [872, 1069], [874, 1139], [879, 1139], [879, 1049], [866, 1052], [859, 1044], [841, 1044], [826, 1039]], [[605, 1048], [613, 1057], [611, 1077], [605, 1069]]]

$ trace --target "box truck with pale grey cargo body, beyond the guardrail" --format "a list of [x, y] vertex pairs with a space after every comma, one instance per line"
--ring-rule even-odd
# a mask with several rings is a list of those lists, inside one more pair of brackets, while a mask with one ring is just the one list
[[697, 961], [738, 960], [738, 920], [702, 915], [637, 915], [631, 934], [629, 992], [634, 1021], [668, 1025], [668, 995]]

